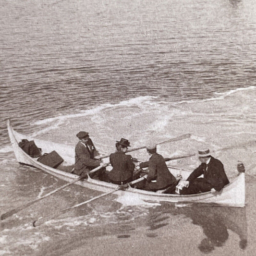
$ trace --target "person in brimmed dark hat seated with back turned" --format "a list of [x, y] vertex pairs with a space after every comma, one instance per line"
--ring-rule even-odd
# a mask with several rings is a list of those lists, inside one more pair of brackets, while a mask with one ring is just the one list
[[125, 155], [125, 152], [130, 146], [127, 139], [122, 138], [116, 141], [116, 152], [110, 154], [110, 164], [113, 169], [109, 173], [111, 183], [125, 184], [133, 180], [134, 163], [131, 155]]

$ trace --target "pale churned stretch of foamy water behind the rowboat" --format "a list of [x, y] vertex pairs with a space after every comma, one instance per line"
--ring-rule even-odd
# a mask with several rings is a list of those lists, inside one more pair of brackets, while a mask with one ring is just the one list
[[[81, 129], [90, 133], [100, 152], [108, 154], [115, 150], [115, 140], [121, 137], [127, 137], [132, 147], [137, 147], [146, 145], [147, 141], [161, 142], [187, 133], [192, 134], [190, 139], [159, 145], [159, 153], [164, 157], [191, 155], [205, 145], [211, 150], [218, 150], [225, 146], [246, 144], [246, 141], [255, 138], [255, 89], [256, 86], [237, 88], [218, 94], [221, 99], [211, 98], [207, 102], [198, 99], [173, 104], [161, 98], [146, 96], [123, 100], [117, 104], [102, 104], [80, 113], [38, 121], [36, 124], [39, 127], [42, 125], [43, 129], [39, 129], [33, 136], [40, 134], [48, 141], [60, 141], [58, 146], [54, 145], [54, 149], [69, 156], [65, 164], [73, 164], [77, 141], [75, 134]], [[49, 127], [45, 127], [48, 123]], [[0, 150], [10, 152], [11, 147]], [[237, 154], [241, 152], [237, 151]], [[221, 152], [216, 156], [230, 164], [229, 155], [230, 152]], [[135, 151], [132, 156], [140, 160], [148, 158], [145, 150]], [[187, 162], [184, 159], [182, 164], [190, 165], [191, 161], [194, 162], [194, 158]], [[176, 163], [179, 164], [179, 161]], [[233, 170], [233, 167], [230, 169]]]

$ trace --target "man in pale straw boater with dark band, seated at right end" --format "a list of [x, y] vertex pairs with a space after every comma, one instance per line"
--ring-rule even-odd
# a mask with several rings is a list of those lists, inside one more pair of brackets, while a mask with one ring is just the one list
[[[201, 164], [189, 175], [186, 182], [177, 185], [180, 195], [198, 194], [207, 191], [215, 193], [229, 183], [223, 164], [210, 155], [210, 150], [198, 151]], [[203, 178], [198, 178], [203, 174]]]

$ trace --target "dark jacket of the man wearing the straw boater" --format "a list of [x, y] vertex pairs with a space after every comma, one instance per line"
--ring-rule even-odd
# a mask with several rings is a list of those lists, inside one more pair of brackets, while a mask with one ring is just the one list
[[216, 191], [220, 191], [229, 183], [223, 164], [212, 156], [210, 162], [207, 165], [204, 163], [199, 165], [195, 171], [189, 175], [187, 181], [193, 181], [202, 174], [204, 174], [206, 182], [211, 184]]

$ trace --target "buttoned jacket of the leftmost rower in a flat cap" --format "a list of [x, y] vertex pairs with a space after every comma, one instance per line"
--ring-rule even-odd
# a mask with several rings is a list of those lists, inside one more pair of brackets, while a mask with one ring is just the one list
[[88, 169], [99, 166], [99, 161], [93, 159], [95, 156], [95, 148], [91, 145], [84, 145], [79, 141], [75, 146], [75, 170], [81, 170], [85, 167]]

